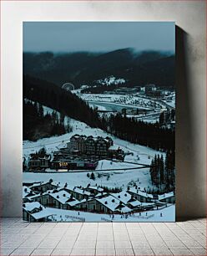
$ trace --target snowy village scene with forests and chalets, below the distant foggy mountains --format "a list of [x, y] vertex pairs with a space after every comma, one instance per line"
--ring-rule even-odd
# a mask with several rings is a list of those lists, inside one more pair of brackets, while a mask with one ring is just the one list
[[173, 222], [173, 81], [33, 75], [23, 77], [23, 220]]

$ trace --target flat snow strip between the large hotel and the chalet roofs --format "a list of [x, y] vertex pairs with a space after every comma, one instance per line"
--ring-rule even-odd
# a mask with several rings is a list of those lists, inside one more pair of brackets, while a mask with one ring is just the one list
[[110, 172], [93, 172], [95, 180], [87, 177], [87, 172], [54, 172], [54, 173], [35, 173], [23, 172], [23, 182], [48, 182], [53, 179], [54, 182], [64, 186], [65, 182], [68, 186], [87, 187], [88, 184], [106, 187], [122, 187], [126, 188], [130, 184], [136, 184], [140, 189], [144, 190], [152, 186], [149, 174], [149, 168], [134, 169], [126, 171], [110, 171]]

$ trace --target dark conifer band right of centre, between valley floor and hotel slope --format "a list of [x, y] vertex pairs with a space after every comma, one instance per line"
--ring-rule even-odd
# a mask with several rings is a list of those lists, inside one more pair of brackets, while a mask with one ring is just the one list
[[103, 129], [119, 138], [149, 146], [158, 151], [174, 151], [174, 131], [161, 128], [159, 123], [144, 123], [135, 118], [121, 114], [111, 115], [102, 119]]

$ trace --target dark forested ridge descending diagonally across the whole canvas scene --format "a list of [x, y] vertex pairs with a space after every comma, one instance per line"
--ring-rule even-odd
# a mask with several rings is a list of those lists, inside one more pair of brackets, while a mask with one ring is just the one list
[[[56, 84], [24, 76], [23, 99], [38, 102], [40, 105], [52, 108], [62, 115], [68, 115], [70, 118], [83, 121], [92, 128], [108, 131], [125, 141], [150, 146], [156, 150], [174, 150], [174, 131], [159, 127], [159, 124], [148, 124], [134, 120], [134, 118], [126, 118], [120, 113], [99, 118], [98, 112], [90, 108], [85, 101], [71, 92], [63, 90]], [[25, 126], [29, 127], [30, 125]], [[56, 128], [55, 131], [57, 131]], [[27, 132], [25, 130], [25, 134]], [[57, 134], [57, 132], [55, 133]], [[58, 133], [63, 133], [62, 129]]]

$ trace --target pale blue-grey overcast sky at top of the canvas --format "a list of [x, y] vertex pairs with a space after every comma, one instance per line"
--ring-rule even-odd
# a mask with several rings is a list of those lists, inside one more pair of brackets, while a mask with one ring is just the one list
[[173, 22], [24, 22], [23, 51], [103, 52], [134, 48], [174, 52]]

